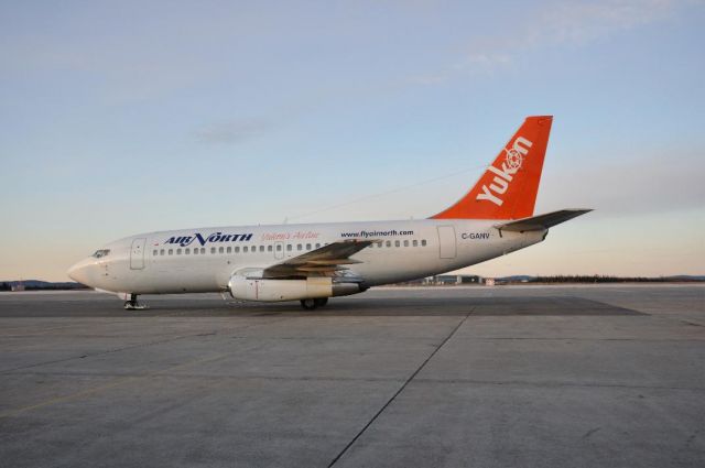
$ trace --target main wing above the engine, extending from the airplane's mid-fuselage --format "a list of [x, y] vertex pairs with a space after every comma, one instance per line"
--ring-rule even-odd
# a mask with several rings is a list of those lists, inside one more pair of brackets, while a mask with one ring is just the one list
[[347, 270], [345, 265], [361, 263], [350, 255], [377, 242], [376, 240], [343, 240], [286, 259], [262, 271], [262, 277], [333, 276]]

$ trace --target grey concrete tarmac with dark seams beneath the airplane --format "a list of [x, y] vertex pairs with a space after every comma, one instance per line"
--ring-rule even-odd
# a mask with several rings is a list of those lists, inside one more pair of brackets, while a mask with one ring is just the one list
[[0, 294], [1, 467], [703, 467], [705, 286]]

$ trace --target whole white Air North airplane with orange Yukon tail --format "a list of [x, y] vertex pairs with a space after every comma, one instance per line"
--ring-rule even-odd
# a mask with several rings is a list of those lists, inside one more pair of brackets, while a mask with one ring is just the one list
[[147, 308], [142, 294], [209, 292], [315, 309], [329, 297], [480, 263], [590, 211], [533, 215], [552, 123], [528, 117], [473, 188], [427, 219], [147, 232], [105, 244], [68, 275], [116, 293], [127, 309]]

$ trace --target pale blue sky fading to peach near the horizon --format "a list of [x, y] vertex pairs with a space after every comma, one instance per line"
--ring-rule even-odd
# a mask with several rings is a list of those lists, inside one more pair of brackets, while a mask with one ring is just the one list
[[705, 274], [705, 2], [0, 1], [0, 280], [207, 226], [422, 219], [552, 115], [536, 213], [467, 272]]

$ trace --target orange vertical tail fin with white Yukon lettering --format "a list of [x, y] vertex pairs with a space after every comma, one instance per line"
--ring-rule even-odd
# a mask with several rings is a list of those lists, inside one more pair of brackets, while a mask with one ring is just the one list
[[552, 116], [527, 117], [460, 200], [432, 219], [519, 219], [533, 215]]

